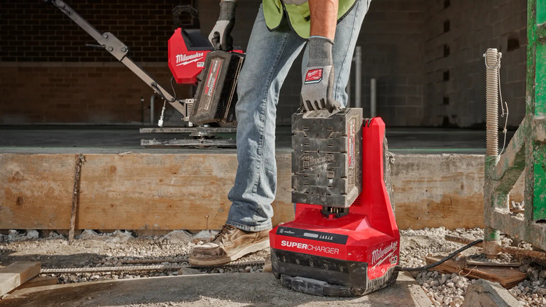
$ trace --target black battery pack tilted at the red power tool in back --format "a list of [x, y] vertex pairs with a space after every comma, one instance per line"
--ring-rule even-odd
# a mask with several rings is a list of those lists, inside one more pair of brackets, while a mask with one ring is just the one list
[[198, 76], [197, 93], [190, 121], [231, 123], [235, 121], [237, 79], [243, 67], [244, 55], [222, 50], [207, 54], [204, 69]]

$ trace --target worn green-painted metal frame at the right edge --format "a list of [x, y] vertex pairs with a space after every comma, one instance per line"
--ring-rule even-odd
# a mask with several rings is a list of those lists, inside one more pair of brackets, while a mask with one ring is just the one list
[[[505, 153], [485, 157], [484, 253], [499, 252], [500, 232], [546, 250], [546, 4], [527, 1], [526, 116]], [[524, 218], [510, 213], [517, 179], [525, 177]]]

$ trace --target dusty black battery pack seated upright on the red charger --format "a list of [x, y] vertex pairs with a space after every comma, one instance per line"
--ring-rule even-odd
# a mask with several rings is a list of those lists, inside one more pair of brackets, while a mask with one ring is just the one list
[[292, 202], [349, 207], [362, 189], [362, 109], [292, 115]]

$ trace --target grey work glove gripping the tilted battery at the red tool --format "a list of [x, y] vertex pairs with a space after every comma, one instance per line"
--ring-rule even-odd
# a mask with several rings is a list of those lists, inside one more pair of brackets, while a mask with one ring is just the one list
[[235, 25], [235, 8], [237, 2], [233, 0], [223, 0], [220, 2], [220, 16], [216, 25], [209, 34], [209, 41], [214, 49], [231, 51], [233, 49], [233, 38], [230, 33]]

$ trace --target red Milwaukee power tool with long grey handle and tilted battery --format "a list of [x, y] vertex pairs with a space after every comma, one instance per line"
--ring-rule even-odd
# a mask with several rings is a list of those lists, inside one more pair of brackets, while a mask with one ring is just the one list
[[[169, 39], [169, 69], [173, 79], [180, 84], [197, 84], [195, 98], [178, 99], [171, 95], [144, 69], [128, 56], [129, 47], [111, 32], [97, 31], [87, 20], [76, 13], [62, 0], [42, 0], [59, 8], [62, 13], [76, 22], [87, 34], [99, 43], [87, 45], [104, 48], [122, 64], [148, 84], [165, 102], [169, 102], [182, 115], [189, 125], [204, 123], [232, 123], [235, 121], [235, 103], [237, 102], [237, 78], [244, 61], [244, 53], [235, 47], [232, 52], [214, 50], [200, 29], [183, 29], [182, 20], [198, 20], [197, 10], [191, 6], [177, 6], [173, 10], [175, 20], [174, 34]], [[198, 23], [198, 22], [197, 22]], [[206, 79], [205, 82], [202, 82]], [[172, 85], [172, 84], [171, 84]], [[163, 108], [165, 111], [165, 108]], [[158, 123], [163, 127], [163, 113]], [[157, 131], [153, 131], [157, 132]], [[183, 132], [179, 130], [178, 132]], [[190, 132], [190, 131], [185, 131]], [[230, 132], [235, 132], [230, 131]], [[198, 135], [211, 135], [211, 130], [197, 131]], [[193, 143], [190, 143], [193, 144]], [[201, 143], [199, 143], [201, 144]], [[182, 144], [181, 144], [182, 145]], [[234, 144], [235, 145], [235, 144]]]

